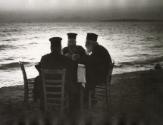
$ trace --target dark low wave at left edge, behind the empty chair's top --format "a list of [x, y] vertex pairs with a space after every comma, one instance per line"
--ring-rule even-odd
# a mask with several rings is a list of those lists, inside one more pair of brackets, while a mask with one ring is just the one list
[[[24, 65], [31, 66], [34, 63], [31, 62], [23, 62]], [[20, 67], [19, 62], [12, 62], [12, 63], [7, 63], [7, 64], [0, 64], [0, 69], [1, 70], [8, 70], [8, 69], [15, 69]]]

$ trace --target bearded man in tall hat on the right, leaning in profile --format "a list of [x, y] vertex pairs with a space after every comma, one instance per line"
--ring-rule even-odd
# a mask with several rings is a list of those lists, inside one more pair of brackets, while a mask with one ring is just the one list
[[86, 63], [86, 89], [93, 90], [96, 85], [106, 83], [111, 57], [107, 49], [97, 42], [98, 35], [88, 33], [86, 38], [86, 49], [89, 55]]

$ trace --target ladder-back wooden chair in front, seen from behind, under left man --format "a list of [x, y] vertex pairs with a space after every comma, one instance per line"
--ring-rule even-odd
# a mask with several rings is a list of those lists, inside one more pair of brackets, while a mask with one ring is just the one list
[[65, 93], [65, 69], [41, 69], [42, 87], [43, 87], [43, 110], [48, 107], [59, 109], [63, 113], [69, 108], [68, 94]]

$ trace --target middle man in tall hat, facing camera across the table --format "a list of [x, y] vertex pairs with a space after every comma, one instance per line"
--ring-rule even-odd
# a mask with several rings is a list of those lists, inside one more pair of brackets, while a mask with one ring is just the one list
[[82, 46], [76, 45], [76, 33], [68, 33], [68, 46], [63, 48], [63, 55], [73, 61], [81, 63], [81, 58], [85, 56], [85, 50]]

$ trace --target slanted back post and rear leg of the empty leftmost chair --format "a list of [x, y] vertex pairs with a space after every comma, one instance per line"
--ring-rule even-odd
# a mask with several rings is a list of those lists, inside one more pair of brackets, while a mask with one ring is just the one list
[[23, 74], [23, 80], [24, 80], [24, 102], [28, 103], [29, 100], [29, 88], [28, 88], [28, 79], [27, 79], [27, 74], [25, 71], [25, 67], [23, 62], [19, 62], [20, 68]]

